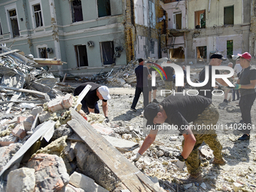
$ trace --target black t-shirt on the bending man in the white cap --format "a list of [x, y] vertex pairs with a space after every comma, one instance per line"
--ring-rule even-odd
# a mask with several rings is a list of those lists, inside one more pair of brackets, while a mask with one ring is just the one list
[[[84, 90], [84, 87], [87, 86], [87, 84], [90, 84], [92, 87], [90, 88], [90, 90], [88, 91], [86, 96], [84, 96], [83, 100], [86, 101], [86, 104], [87, 104], [88, 108], [94, 108], [96, 102], [99, 101], [99, 97], [97, 96], [96, 90], [99, 87], [101, 87], [101, 85], [95, 84], [93, 82], [87, 82], [87, 83], [81, 84], [81, 85], [79, 85], [78, 87], [75, 88], [74, 96], [78, 96]], [[107, 102], [107, 100], [105, 100], [105, 99], [103, 99], [102, 101]]]

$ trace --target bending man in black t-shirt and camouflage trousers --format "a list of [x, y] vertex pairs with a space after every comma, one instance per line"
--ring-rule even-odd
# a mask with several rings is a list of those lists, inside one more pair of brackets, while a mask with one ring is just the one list
[[[162, 129], [170, 132], [179, 130], [184, 136], [183, 151], [177, 157], [176, 166], [178, 170], [182, 170], [186, 163], [187, 172], [190, 173], [191, 178], [200, 178], [198, 148], [203, 142], [206, 142], [213, 151], [215, 158], [212, 163], [220, 165], [226, 163], [222, 158], [222, 146], [214, 129], [219, 117], [218, 108], [212, 104], [211, 99], [204, 96], [171, 95], [163, 99], [160, 104], [153, 102], [149, 104], [145, 108], [144, 117], [147, 119], [146, 125], [147, 129], [150, 129], [150, 133], [136, 156], [132, 157], [133, 161], [139, 160], [139, 157], [156, 139], [158, 130]], [[190, 122], [193, 122], [193, 125], [190, 125]], [[169, 125], [164, 126], [160, 123], [169, 123]], [[206, 127], [210, 127], [210, 129], [206, 129]]]

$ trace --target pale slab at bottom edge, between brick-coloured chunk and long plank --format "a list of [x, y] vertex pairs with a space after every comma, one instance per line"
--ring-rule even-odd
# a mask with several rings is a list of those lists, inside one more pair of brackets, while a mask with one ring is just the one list
[[73, 172], [70, 175], [69, 183], [74, 185], [75, 187], [82, 188], [87, 192], [107, 192], [102, 186], [96, 184], [92, 178], [87, 177], [78, 172]]

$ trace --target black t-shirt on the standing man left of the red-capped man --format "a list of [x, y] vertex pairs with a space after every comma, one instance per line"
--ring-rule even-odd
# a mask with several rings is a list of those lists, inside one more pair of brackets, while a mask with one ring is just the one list
[[[218, 70], [216, 70], [215, 74], [219, 75], [220, 72]], [[205, 78], [206, 78], [206, 68], [204, 68], [200, 72], [199, 81], [203, 82], [205, 80]], [[205, 91], [200, 91], [200, 90], [211, 90], [211, 91], [206, 91], [206, 97], [209, 99], [212, 99], [212, 90], [214, 89], [212, 87], [212, 66], [209, 66], [209, 81], [208, 81], [208, 83], [203, 87], [197, 87], [197, 89], [199, 90], [200, 96], [205, 96]]]

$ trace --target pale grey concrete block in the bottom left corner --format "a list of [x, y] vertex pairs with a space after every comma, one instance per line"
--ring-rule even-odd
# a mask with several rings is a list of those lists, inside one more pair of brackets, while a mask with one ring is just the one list
[[6, 192], [34, 191], [35, 169], [20, 168], [8, 174]]

